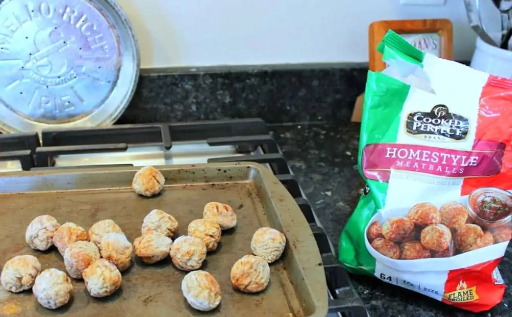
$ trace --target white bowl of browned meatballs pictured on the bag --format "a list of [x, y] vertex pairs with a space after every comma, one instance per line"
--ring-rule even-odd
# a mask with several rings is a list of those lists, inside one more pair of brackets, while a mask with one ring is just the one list
[[377, 262], [409, 270], [432, 268], [429, 265], [460, 268], [486, 257], [494, 259], [506, 248], [500, 243], [510, 240], [506, 233], [512, 232], [512, 224], [505, 220], [477, 221], [468, 201], [468, 196], [463, 196], [454, 201], [425, 201], [410, 208], [380, 210], [366, 228], [368, 251]]

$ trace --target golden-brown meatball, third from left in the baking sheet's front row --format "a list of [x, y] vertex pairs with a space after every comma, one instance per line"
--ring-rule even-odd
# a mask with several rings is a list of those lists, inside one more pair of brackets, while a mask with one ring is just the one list
[[92, 297], [106, 297], [121, 287], [121, 273], [105, 259], [99, 259], [83, 270], [83, 281]]

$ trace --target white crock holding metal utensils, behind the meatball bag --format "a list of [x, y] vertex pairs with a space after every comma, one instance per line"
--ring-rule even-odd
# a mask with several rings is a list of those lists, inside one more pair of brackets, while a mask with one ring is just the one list
[[477, 38], [471, 67], [491, 75], [512, 78], [512, 51], [490, 46]]

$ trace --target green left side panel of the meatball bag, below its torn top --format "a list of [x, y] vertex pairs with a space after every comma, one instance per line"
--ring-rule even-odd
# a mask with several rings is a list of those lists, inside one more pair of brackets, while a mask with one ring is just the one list
[[[358, 168], [366, 145], [396, 143], [400, 114], [410, 86], [389, 76], [368, 72], [359, 136]], [[366, 178], [365, 178], [366, 179]], [[384, 207], [388, 183], [366, 179], [367, 195], [361, 196], [339, 240], [339, 260], [352, 273], [373, 275], [375, 259], [366, 248], [365, 228], [378, 209]]]

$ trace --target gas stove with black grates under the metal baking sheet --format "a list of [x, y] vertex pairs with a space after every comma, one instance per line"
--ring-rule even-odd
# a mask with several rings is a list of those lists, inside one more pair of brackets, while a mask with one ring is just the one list
[[0, 173], [91, 166], [257, 162], [287, 188], [309, 222], [322, 254], [329, 316], [367, 316], [349, 276], [295, 180], [283, 152], [260, 119], [114, 125], [0, 135]]

